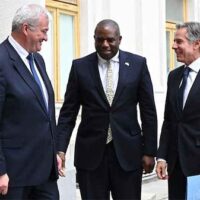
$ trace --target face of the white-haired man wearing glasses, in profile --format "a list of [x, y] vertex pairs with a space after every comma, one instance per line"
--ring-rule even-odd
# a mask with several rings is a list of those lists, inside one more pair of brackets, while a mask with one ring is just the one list
[[42, 42], [47, 41], [47, 31], [49, 30], [49, 21], [46, 16], [41, 15], [36, 27], [27, 25], [26, 46], [29, 53], [41, 50]]

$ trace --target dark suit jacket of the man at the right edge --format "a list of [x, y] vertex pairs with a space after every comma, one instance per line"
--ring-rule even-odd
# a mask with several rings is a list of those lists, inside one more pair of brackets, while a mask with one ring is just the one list
[[178, 89], [184, 66], [168, 77], [164, 123], [158, 158], [168, 162], [169, 174], [179, 158], [186, 176], [200, 174], [200, 73], [190, 90], [184, 110], [178, 106]]

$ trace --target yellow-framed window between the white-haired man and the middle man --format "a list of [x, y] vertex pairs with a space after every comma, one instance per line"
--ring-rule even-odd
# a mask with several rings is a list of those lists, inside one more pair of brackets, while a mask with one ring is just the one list
[[47, 72], [56, 102], [62, 102], [72, 60], [79, 56], [79, 4], [77, 0], [46, 0], [46, 7], [51, 18], [44, 47]]

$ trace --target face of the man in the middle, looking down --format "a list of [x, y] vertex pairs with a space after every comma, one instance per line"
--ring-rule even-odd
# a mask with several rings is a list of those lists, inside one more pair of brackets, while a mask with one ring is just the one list
[[97, 53], [99, 53], [103, 59], [110, 60], [117, 54], [121, 38], [122, 37], [117, 34], [116, 29], [112, 26], [106, 25], [97, 27], [94, 35]]

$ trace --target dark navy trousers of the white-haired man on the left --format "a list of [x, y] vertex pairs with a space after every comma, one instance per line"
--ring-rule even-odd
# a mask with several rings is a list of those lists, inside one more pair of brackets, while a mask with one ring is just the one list
[[59, 200], [57, 181], [26, 187], [9, 187], [7, 195], [0, 200]]

